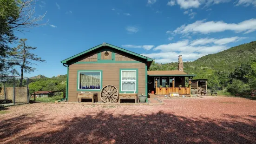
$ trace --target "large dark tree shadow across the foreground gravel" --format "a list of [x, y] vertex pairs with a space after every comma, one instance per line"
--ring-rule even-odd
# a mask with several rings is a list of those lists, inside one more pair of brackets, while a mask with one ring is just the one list
[[[118, 117], [103, 111], [95, 116], [85, 115], [70, 121], [50, 124], [61, 129], [31, 132], [32, 124], [40, 124], [45, 116], [21, 116], [0, 123], [0, 142], [8, 143], [256, 143], [256, 116], [225, 115], [223, 119], [186, 118], [158, 112], [151, 115], [122, 115]], [[64, 116], [65, 117], [65, 116]], [[33, 121], [32, 124], [31, 120]], [[242, 122], [243, 121], [243, 122]], [[50, 119], [47, 122], [51, 123]], [[46, 129], [47, 130], [47, 129]]]

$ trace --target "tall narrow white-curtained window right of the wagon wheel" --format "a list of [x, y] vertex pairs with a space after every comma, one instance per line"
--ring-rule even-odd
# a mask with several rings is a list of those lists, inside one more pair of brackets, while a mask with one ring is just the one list
[[121, 91], [136, 91], [136, 70], [121, 70]]

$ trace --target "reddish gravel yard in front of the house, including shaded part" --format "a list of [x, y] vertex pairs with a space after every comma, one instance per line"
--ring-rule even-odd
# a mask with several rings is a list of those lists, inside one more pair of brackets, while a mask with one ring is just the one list
[[36, 103], [0, 114], [0, 143], [256, 143], [256, 101], [206, 97], [159, 106]]

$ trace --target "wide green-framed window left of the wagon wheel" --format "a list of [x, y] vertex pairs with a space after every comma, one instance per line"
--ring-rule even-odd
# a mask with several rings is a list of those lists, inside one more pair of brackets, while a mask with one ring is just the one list
[[100, 90], [101, 72], [78, 72], [79, 90]]

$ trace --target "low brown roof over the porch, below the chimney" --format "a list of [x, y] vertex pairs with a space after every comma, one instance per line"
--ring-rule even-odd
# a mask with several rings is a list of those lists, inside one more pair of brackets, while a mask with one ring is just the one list
[[187, 74], [183, 71], [173, 70], [173, 71], [148, 71], [149, 76], [188, 76], [193, 77], [195, 75]]

